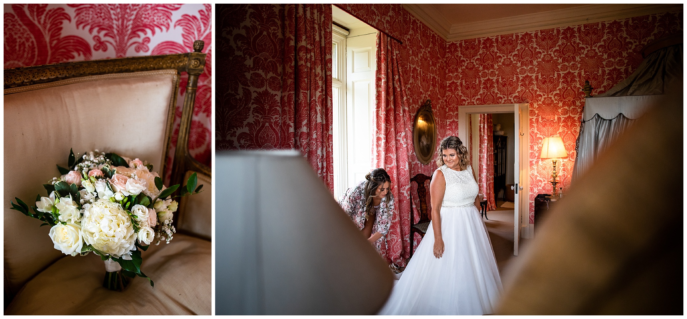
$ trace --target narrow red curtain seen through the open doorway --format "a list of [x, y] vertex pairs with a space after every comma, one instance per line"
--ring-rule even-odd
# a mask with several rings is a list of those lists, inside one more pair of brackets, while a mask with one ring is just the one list
[[480, 193], [486, 195], [486, 209], [496, 209], [494, 199], [494, 136], [491, 114], [480, 114]]

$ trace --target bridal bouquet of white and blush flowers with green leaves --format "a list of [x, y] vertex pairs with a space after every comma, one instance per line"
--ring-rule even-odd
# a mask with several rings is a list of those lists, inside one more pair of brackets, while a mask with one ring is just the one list
[[95, 150], [76, 159], [70, 150], [67, 163], [69, 168], [57, 166], [62, 176], [43, 185], [47, 196], [36, 196], [36, 206], [29, 209], [15, 198], [12, 209], [51, 226], [54, 247], [65, 255], [100, 255], [104, 287], [123, 290], [128, 279], [122, 274], [144, 277], [153, 286], [141, 271], [141, 250], [172, 240], [178, 206], [172, 198], [199, 193], [203, 185], [196, 187], [196, 174], [172, 196], [179, 185], [162, 185], [153, 165], [139, 158]]

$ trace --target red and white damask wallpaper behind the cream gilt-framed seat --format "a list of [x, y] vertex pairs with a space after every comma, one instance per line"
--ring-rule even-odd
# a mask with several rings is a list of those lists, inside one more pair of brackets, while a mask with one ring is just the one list
[[[211, 161], [212, 5], [210, 4], [5, 4], [4, 67], [173, 54], [205, 41], [205, 71], [199, 78], [189, 150]], [[177, 129], [186, 82], [177, 97]], [[173, 152], [172, 152], [173, 154]], [[168, 165], [172, 157], [168, 158]]]

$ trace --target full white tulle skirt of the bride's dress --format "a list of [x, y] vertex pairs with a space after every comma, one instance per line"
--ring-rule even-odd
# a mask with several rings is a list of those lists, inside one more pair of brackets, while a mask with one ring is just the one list
[[475, 206], [442, 207], [444, 255], [432, 224], [380, 315], [493, 314], [503, 290], [486, 226]]

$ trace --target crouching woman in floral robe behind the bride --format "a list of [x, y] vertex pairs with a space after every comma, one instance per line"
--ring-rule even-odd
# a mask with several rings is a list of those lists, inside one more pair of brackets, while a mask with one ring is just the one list
[[380, 253], [386, 248], [386, 235], [394, 211], [390, 185], [389, 174], [383, 168], [376, 168], [365, 176], [365, 180], [346, 190], [339, 201], [343, 211]]

